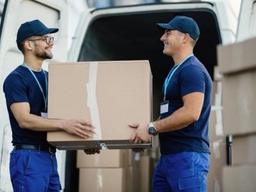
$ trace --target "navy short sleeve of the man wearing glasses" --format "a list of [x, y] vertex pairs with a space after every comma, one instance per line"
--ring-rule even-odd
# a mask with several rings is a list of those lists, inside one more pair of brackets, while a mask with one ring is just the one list
[[20, 76], [10, 74], [6, 77], [3, 89], [8, 107], [10, 107], [13, 102], [29, 102], [26, 84], [22, 81]]

